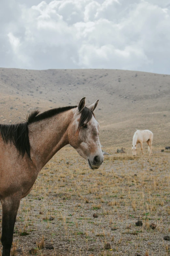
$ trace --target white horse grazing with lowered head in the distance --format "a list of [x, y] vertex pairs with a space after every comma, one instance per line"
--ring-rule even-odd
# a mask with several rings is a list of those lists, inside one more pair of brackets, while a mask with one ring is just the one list
[[149, 156], [152, 155], [152, 140], [153, 140], [153, 133], [149, 130], [137, 130], [134, 133], [133, 142], [132, 142], [132, 153], [133, 156], [136, 156], [137, 153], [137, 144], [140, 143], [142, 155], [143, 153], [143, 142], [147, 142], [148, 144], [148, 151]]

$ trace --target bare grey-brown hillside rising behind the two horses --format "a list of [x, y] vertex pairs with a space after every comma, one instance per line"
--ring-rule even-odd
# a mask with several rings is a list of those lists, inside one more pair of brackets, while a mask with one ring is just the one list
[[22, 121], [39, 108], [99, 99], [95, 111], [104, 146], [128, 146], [136, 129], [150, 129], [154, 146], [170, 145], [170, 76], [123, 70], [0, 68], [0, 123]]

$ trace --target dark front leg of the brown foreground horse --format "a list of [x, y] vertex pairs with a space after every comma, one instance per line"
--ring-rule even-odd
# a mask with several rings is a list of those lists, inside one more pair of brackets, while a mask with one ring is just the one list
[[10, 256], [15, 220], [20, 205], [17, 196], [1, 199], [2, 204], [2, 256]]

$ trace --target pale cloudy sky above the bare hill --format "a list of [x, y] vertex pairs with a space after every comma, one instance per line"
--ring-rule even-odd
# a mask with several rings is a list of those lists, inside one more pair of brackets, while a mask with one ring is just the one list
[[0, 66], [170, 74], [170, 0], [1, 0]]

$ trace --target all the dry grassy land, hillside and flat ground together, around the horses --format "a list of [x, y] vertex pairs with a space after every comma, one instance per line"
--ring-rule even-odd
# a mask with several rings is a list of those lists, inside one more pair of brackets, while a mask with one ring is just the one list
[[[102, 149], [110, 154], [90, 170], [65, 146], [46, 164], [21, 200], [11, 255], [31, 255], [31, 248], [41, 256], [170, 255], [170, 241], [164, 240], [170, 235], [170, 151], [161, 152], [170, 146], [169, 76], [0, 69], [0, 77], [0, 123], [22, 121], [37, 108], [75, 105], [84, 95], [87, 104], [99, 98], [96, 119]], [[147, 144], [144, 157], [140, 146], [132, 156], [136, 128], [153, 131], [151, 157]], [[121, 147], [125, 153], [117, 154]], [[1, 220], [0, 205], [0, 228]]]

